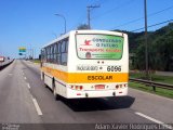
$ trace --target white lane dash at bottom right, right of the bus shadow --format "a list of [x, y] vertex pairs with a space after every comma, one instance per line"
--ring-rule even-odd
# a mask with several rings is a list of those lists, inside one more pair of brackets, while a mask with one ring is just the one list
[[164, 123], [164, 122], [162, 122], [162, 121], [160, 121], [160, 120], [157, 120], [157, 119], [155, 119], [155, 118], [152, 118], [152, 117], [149, 117], [149, 116], [147, 116], [147, 115], [145, 115], [145, 114], [142, 114], [142, 113], [138, 113], [138, 112], [135, 112], [135, 114], [138, 115], [138, 116], [142, 116], [142, 117], [144, 117], [144, 118], [146, 118], [146, 119], [149, 119], [149, 120], [151, 120], [151, 121], [154, 121], [154, 122], [156, 122], [156, 123], [159, 123], [159, 125], [161, 125], [161, 126], [164, 127], [164, 128], [168, 128], [168, 129], [171, 129], [171, 130], [173, 129], [172, 126], [167, 125], [167, 123]]

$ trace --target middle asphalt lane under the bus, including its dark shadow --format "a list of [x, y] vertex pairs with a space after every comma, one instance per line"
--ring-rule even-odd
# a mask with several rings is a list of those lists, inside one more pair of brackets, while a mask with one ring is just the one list
[[[52, 91], [44, 88], [40, 80], [39, 66], [22, 62], [31, 94], [38, 100], [42, 109], [43, 122], [89, 123], [89, 122], [150, 122], [135, 115], [129, 108], [134, 98], [89, 99], [55, 101]], [[128, 117], [128, 118], [127, 118]]]

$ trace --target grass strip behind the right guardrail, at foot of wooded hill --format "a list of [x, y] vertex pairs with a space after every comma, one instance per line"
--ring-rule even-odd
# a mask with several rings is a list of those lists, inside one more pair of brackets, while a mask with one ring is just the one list
[[[131, 73], [130, 78], [145, 79], [145, 74], [144, 73]], [[150, 79], [156, 82], [173, 84], [173, 77], [172, 76], [158, 76], [158, 75], [151, 74]]]

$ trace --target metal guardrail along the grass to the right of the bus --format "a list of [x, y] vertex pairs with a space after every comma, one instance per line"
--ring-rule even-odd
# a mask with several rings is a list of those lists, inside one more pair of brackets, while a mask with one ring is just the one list
[[155, 81], [150, 81], [150, 80], [135, 79], [135, 78], [130, 78], [130, 81], [143, 83], [143, 84], [146, 84], [148, 87], [152, 87], [154, 91], [156, 91], [156, 87], [162, 88], [162, 89], [173, 90], [173, 84], [169, 84], [169, 83], [155, 82]]

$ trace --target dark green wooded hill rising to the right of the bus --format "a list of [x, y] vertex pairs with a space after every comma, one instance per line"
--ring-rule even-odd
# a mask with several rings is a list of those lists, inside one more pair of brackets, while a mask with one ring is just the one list
[[[145, 69], [145, 34], [124, 31], [129, 35], [130, 53], [134, 53], [133, 69]], [[148, 31], [149, 68], [173, 72], [173, 23]]]

